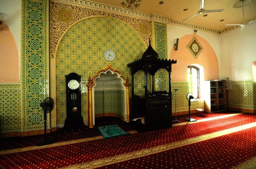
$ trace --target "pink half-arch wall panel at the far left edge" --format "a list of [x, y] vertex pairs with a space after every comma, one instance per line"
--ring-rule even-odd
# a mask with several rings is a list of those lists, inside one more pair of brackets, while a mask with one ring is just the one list
[[19, 82], [19, 54], [15, 39], [6, 23], [0, 25], [0, 83]]

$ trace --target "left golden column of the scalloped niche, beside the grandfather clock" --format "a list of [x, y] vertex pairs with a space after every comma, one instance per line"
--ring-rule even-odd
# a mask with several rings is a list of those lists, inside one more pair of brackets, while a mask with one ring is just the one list
[[92, 96], [92, 87], [93, 82], [92, 79], [90, 78], [90, 73], [89, 73], [89, 79], [88, 83], [86, 85], [88, 87], [88, 127], [93, 128], [93, 96]]

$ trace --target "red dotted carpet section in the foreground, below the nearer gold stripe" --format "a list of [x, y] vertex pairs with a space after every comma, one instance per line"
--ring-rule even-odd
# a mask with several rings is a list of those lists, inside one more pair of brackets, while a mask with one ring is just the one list
[[109, 169], [126, 169], [126, 167], [134, 169], [230, 169], [256, 157], [255, 136], [256, 127], [253, 127], [107, 167]]

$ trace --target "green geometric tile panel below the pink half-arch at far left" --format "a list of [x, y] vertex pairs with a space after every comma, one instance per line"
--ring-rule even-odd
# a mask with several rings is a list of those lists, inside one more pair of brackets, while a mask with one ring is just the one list
[[0, 132], [20, 130], [20, 84], [0, 84]]

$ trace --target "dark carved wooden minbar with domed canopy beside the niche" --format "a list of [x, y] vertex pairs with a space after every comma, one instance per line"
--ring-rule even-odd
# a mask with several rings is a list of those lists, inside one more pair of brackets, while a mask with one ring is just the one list
[[[131, 114], [132, 126], [138, 132], [157, 130], [172, 127], [172, 64], [177, 60], [158, 59], [158, 54], [150, 45], [142, 55], [142, 58], [131, 62], [132, 91], [131, 91]], [[154, 75], [157, 70], [165, 69], [168, 73], [169, 92], [154, 91]], [[134, 74], [138, 70], [144, 71], [145, 93], [141, 96], [134, 95]], [[148, 84], [148, 76], [152, 76]], [[151, 92], [149, 91], [150, 88]]]

